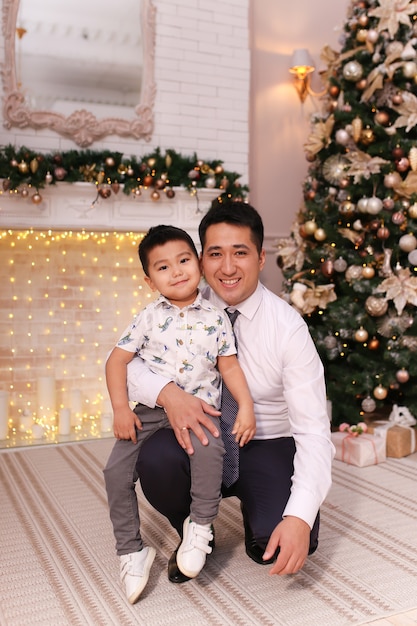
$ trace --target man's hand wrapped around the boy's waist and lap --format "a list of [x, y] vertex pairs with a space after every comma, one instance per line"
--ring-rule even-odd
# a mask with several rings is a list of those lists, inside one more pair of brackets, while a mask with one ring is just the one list
[[170, 382], [165, 385], [158, 396], [157, 403], [164, 407], [178, 443], [188, 454], [194, 453], [190, 430], [194, 432], [204, 446], [208, 445], [208, 439], [201, 426], [207, 428], [214, 437], [220, 436], [211, 419], [205, 415], [208, 413], [212, 416], [219, 416], [220, 411], [216, 411], [197, 396], [186, 393], [175, 383]]

